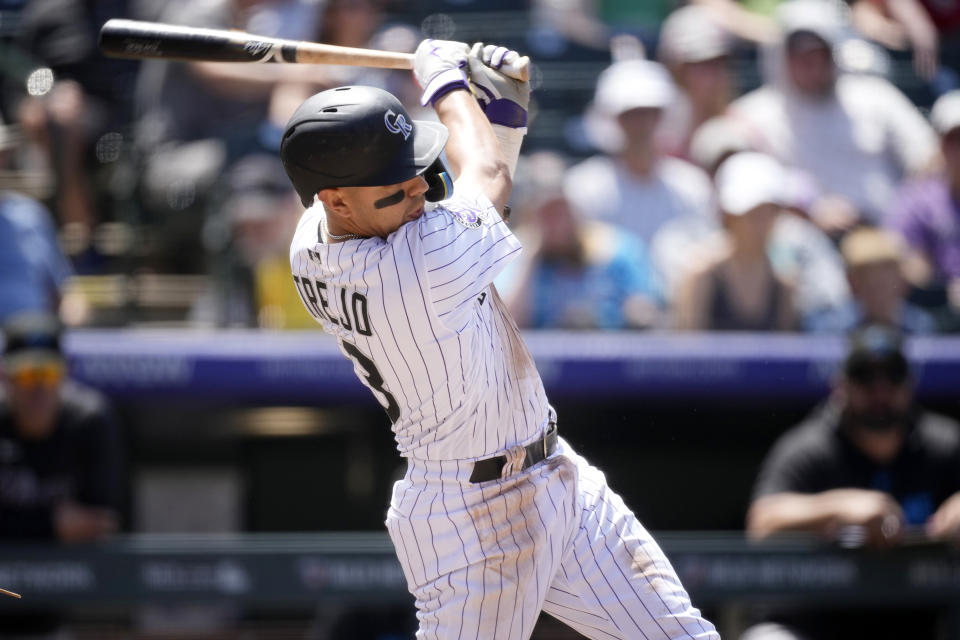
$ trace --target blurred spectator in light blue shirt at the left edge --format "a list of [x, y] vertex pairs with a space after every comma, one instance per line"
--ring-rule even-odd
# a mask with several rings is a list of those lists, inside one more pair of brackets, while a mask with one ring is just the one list
[[[10, 127], [0, 122], [0, 171], [8, 166], [13, 140]], [[43, 205], [0, 189], [0, 324], [20, 312], [56, 313], [71, 273]]]

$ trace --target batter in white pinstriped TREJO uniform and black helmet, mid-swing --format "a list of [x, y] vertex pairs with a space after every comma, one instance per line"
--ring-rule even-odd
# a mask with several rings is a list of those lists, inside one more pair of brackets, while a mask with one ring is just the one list
[[407, 459], [386, 524], [417, 637], [528, 638], [546, 611], [589, 638], [718, 639], [603, 474], [558, 436], [491, 284], [521, 250], [502, 212], [530, 89], [497, 71], [516, 55], [426, 40], [414, 73], [442, 124], [340, 87], [306, 100], [281, 143], [308, 207], [290, 250], [297, 289]]

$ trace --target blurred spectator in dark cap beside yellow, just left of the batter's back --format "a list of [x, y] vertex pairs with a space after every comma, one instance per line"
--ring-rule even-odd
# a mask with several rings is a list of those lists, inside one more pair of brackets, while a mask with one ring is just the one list
[[212, 291], [192, 312], [216, 326], [290, 329], [316, 323], [290, 279], [290, 238], [303, 212], [279, 160], [245, 156], [225, 177], [223, 204], [204, 231]]

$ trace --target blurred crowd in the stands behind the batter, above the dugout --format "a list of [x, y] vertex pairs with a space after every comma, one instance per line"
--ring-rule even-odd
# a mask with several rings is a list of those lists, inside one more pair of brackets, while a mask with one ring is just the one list
[[[960, 330], [960, 5], [935, 0], [0, 2], [0, 315], [305, 328], [277, 158], [308, 95], [411, 74], [121, 60], [127, 17], [535, 63], [498, 281], [521, 326]], [[493, 30], [491, 32], [491, 30]]]

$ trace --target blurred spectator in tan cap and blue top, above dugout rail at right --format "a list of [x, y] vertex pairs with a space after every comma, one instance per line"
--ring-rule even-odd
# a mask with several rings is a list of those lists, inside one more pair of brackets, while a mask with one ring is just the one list
[[863, 227], [844, 236], [840, 245], [850, 291], [848, 304], [810, 322], [818, 332], [845, 333], [864, 324], [885, 324], [906, 333], [933, 333], [933, 316], [906, 300], [904, 252], [899, 238], [883, 229]]

